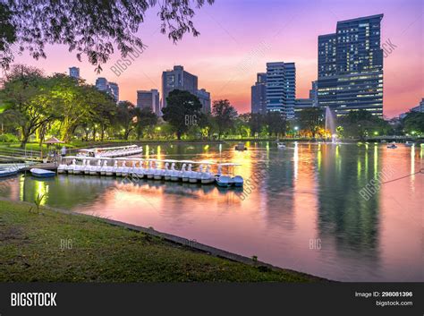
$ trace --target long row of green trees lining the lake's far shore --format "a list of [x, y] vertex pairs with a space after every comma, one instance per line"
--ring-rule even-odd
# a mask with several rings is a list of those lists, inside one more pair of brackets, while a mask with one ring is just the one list
[[[148, 139], [215, 140], [230, 138], [328, 137], [324, 115], [318, 108], [305, 109], [294, 120], [280, 112], [238, 115], [227, 99], [214, 101], [212, 113], [202, 113], [199, 98], [174, 90], [167, 98], [163, 117], [150, 108], [129, 101], [118, 105], [105, 92], [85, 81], [39, 69], [13, 66], [0, 90], [2, 140], [43, 141], [50, 136], [62, 141], [125, 141]], [[424, 133], [424, 116], [411, 112], [393, 127], [367, 111], [352, 111], [336, 119], [337, 133], [364, 139], [383, 134]], [[395, 128], [395, 129], [394, 129]]]

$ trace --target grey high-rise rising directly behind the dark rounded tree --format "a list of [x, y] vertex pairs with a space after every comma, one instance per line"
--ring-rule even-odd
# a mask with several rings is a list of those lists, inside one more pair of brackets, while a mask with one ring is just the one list
[[166, 98], [172, 90], [185, 90], [196, 95], [198, 77], [184, 71], [181, 65], [174, 66], [173, 70], [162, 73], [162, 107], [166, 107]]

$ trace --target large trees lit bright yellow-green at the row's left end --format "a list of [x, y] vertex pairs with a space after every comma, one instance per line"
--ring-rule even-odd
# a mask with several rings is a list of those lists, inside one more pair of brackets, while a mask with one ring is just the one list
[[[71, 141], [79, 127], [100, 126], [102, 137], [114, 115], [112, 98], [95, 87], [64, 74], [45, 76], [37, 68], [14, 65], [0, 90], [7, 132], [18, 130], [21, 147], [36, 135], [42, 143], [54, 132]], [[86, 137], [88, 138], [88, 136]]]

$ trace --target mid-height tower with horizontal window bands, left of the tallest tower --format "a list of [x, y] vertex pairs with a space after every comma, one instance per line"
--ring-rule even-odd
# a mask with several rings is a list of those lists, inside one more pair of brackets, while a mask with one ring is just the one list
[[280, 111], [294, 117], [296, 68], [294, 63], [267, 63], [267, 111]]

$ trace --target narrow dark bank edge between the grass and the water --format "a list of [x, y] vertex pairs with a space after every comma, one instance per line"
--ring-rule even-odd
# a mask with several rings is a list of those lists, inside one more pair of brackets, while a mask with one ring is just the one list
[[[9, 202], [9, 203], [12, 203], [13, 205], [34, 206], [33, 203], [30, 203], [30, 202], [27, 202], [27, 201], [13, 201], [13, 200], [10, 200], [10, 199], [4, 198], [4, 197], [0, 197], [0, 201]], [[225, 250], [218, 249], [216, 247], [212, 247], [212, 246], [209, 246], [207, 244], [198, 243], [195, 240], [183, 238], [183, 237], [178, 236], [178, 235], [171, 235], [171, 234], [167, 234], [167, 233], [164, 233], [164, 232], [159, 232], [159, 231], [157, 231], [153, 228], [147, 228], [147, 227], [144, 227], [144, 226], [135, 226], [135, 225], [131, 225], [129, 223], [124, 223], [124, 222], [117, 221], [117, 220], [110, 219], [110, 218], [99, 218], [99, 217], [96, 217], [94, 215], [81, 214], [81, 213], [77, 213], [77, 212], [74, 212], [74, 211], [69, 210], [69, 209], [59, 209], [59, 208], [53, 208], [53, 207], [50, 207], [50, 206], [43, 206], [42, 209], [47, 209], [47, 210], [53, 211], [53, 212], [58, 213], [58, 214], [75, 216], [76, 218], [91, 218], [96, 222], [104, 223], [104, 224], [107, 224], [109, 226], [117, 226], [117, 227], [124, 228], [125, 230], [128, 230], [128, 231], [133, 231], [133, 232], [142, 233], [142, 234], [145, 234], [145, 235], [150, 235], [152, 237], [156, 237], [156, 238], [163, 240], [165, 242], [173, 243], [176, 246], [182, 246], [184, 248], [188, 248], [191, 252], [203, 253], [203, 254], [206, 254], [206, 255], [211, 256], [211, 257], [216, 257], [216, 258], [223, 259], [223, 260], [229, 260], [229, 261], [240, 263], [240, 264], [249, 266], [251, 268], [259, 269], [259, 270], [262, 269], [262, 270], [265, 270], [265, 271], [273, 271], [273, 272], [276, 272], [276, 273], [293, 274], [293, 275], [295, 275], [299, 278], [309, 279], [311, 282], [336, 282], [336, 281], [329, 280], [329, 279], [326, 279], [326, 278], [320, 278], [320, 277], [317, 277], [317, 276], [313, 276], [313, 275], [310, 275], [308, 273], [295, 271], [295, 270], [292, 270], [292, 269], [284, 269], [284, 268], [276, 267], [276, 266], [273, 266], [273, 265], [271, 265], [267, 262], [263, 262], [263, 261], [260, 261], [260, 260], [253, 260], [252, 258], [248, 258], [248, 257], [242, 256], [240, 254], [233, 253], [233, 252], [227, 252]], [[1, 215], [1, 213], [0, 213], [0, 215]]]

